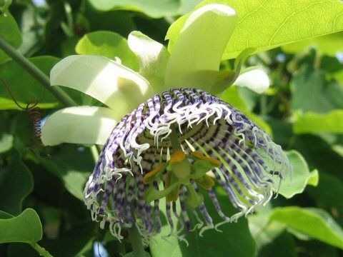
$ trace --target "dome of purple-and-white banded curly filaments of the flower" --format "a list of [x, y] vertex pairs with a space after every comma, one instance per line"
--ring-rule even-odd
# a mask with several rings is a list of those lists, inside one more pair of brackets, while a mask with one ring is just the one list
[[[170, 235], [177, 235], [180, 240], [193, 229], [202, 233], [222, 224], [213, 223], [204, 203], [189, 208], [189, 186], [199, 192], [192, 180], [189, 185], [180, 186], [177, 200], [165, 201], [164, 206], [159, 199], [144, 199], [149, 185], [144, 184], [143, 178], [159, 163], [169, 161], [174, 152], [170, 135], [175, 127], [184, 153], [197, 151], [221, 163], [212, 168], [212, 177], [237, 213], [229, 217], [222, 211], [214, 188], [205, 192], [222, 223], [236, 221], [267, 203], [277, 191], [277, 183], [292, 172], [282, 148], [230, 104], [198, 89], [156, 94], [117, 124], [86, 183], [84, 202], [91, 217], [100, 221], [101, 228], [109, 223], [111, 233], [119, 240], [122, 228], [132, 226], [137, 226], [144, 238], [160, 233], [160, 208], [165, 208]], [[168, 168], [151, 183], [156, 190], [166, 186], [166, 172]], [[195, 217], [196, 224], [191, 223], [189, 214]], [[175, 226], [175, 221], [181, 228]]]

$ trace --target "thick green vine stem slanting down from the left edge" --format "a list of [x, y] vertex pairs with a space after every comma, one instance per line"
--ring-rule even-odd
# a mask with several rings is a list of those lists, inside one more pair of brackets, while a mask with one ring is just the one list
[[43, 85], [46, 89], [51, 91], [56, 99], [59, 99], [62, 104], [65, 106], [76, 106], [76, 102], [71, 99], [71, 97], [66, 94], [62, 89], [59, 87], [51, 86], [50, 79], [48, 76], [44, 74], [38, 67], [31, 63], [28, 59], [25, 58], [22, 54], [19, 53], [13, 46], [7, 43], [1, 36], [0, 36], [0, 49], [2, 49], [8, 56], [11, 57], [17, 64], [23, 67], [31, 76], [36, 79], [41, 85]]

